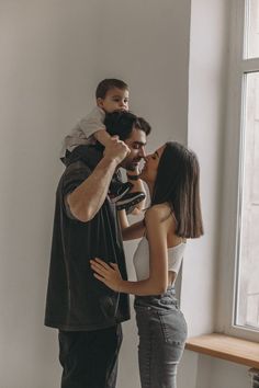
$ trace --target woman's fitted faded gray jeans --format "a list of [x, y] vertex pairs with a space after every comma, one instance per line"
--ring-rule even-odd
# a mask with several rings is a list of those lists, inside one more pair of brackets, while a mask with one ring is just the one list
[[142, 388], [177, 388], [177, 366], [187, 340], [187, 322], [174, 287], [158, 296], [136, 296]]

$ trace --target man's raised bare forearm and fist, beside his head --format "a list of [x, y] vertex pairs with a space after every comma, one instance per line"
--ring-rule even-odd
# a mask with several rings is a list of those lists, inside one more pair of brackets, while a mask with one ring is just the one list
[[95, 216], [105, 201], [117, 164], [128, 152], [130, 149], [124, 141], [119, 140], [117, 137], [111, 137], [102, 160], [91, 175], [67, 196], [67, 204], [74, 217], [87, 222]]

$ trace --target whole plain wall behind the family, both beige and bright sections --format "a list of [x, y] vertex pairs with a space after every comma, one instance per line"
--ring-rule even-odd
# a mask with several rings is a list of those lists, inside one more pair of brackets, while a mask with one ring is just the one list
[[[57, 333], [44, 328], [63, 137], [122, 78], [131, 109], [199, 155], [206, 235], [189, 243], [181, 305], [189, 334], [215, 329], [230, 0], [0, 0], [0, 388], [59, 386]], [[132, 253], [125, 244], [128, 273]], [[138, 388], [126, 322], [117, 388]], [[245, 367], [184, 352], [179, 388], [247, 388]]]

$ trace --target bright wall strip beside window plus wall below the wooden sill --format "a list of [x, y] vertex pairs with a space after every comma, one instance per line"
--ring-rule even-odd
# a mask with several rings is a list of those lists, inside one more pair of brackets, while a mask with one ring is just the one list
[[[181, 306], [189, 336], [217, 329], [230, 12], [230, 1], [192, 0], [188, 145], [201, 163], [205, 236], [189, 244], [183, 263]], [[179, 388], [248, 388], [247, 372], [248, 367], [185, 351]]]

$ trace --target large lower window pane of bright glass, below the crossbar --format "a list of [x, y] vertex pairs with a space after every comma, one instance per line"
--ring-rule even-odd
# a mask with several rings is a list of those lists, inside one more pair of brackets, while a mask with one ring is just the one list
[[245, 75], [235, 323], [259, 329], [259, 72]]

